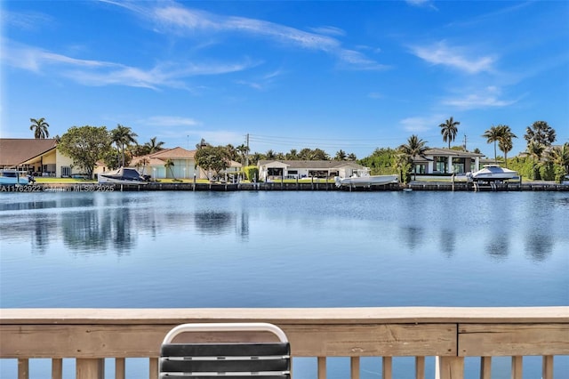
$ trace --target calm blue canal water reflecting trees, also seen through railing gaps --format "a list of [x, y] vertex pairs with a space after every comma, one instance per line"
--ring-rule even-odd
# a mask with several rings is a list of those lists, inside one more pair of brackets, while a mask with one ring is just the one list
[[[0, 306], [569, 305], [567, 230], [566, 192], [3, 193]], [[329, 377], [348, 377], [331, 360]], [[381, 377], [378, 362], [364, 359], [362, 378]], [[310, 359], [294, 368], [316, 375]], [[509, 377], [509, 360], [493, 369]]]

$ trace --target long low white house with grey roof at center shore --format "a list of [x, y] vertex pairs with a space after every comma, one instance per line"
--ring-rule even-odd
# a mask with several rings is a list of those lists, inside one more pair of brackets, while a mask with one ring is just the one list
[[353, 161], [338, 160], [260, 160], [260, 181], [303, 178], [347, 178], [364, 168]]

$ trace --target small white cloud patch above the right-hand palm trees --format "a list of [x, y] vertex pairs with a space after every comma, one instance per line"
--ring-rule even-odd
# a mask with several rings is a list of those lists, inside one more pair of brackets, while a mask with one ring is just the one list
[[462, 46], [449, 46], [445, 41], [424, 46], [412, 46], [413, 54], [434, 65], [448, 66], [469, 74], [492, 71], [495, 58], [477, 52], [467, 52]]

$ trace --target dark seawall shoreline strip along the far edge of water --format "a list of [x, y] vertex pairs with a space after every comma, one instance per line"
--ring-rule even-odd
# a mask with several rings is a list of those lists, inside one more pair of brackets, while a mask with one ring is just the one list
[[160, 183], [150, 182], [142, 185], [99, 184], [99, 183], [37, 183], [20, 188], [3, 187], [1, 192], [114, 192], [114, 191], [236, 191], [236, 190], [335, 190], [335, 191], [402, 191], [402, 190], [437, 190], [437, 191], [569, 191], [569, 185], [550, 182], [536, 183], [494, 183], [475, 186], [469, 182], [428, 182], [413, 181], [407, 187], [391, 183], [373, 187], [336, 187], [333, 182], [260, 182], [260, 183]]

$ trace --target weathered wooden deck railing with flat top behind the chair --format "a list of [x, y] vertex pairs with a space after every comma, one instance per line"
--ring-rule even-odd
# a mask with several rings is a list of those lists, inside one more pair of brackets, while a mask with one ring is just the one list
[[569, 355], [569, 307], [2, 309], [0, 358], [18, 359], [20, 379], [36, 358], [52, 359], [54, 379], [68, 358], [76, 359], [77, 379], [100, 379], [104, 359], [113, 358], [123, 379], [125, 359], [143, 357], [155, 379], [160, 344], [175, 325], [251, 321], [283, 328], [294, 358], [317, 358], [319, 379], [331, 357], [349, 357], [352, 379], [360, 377], [362, 357], [381, 357], [383, 379], [397, 377], [393, 357], [415, 357], [417, 379], [425, 377], [426, 357], [438, 357], [443, 379], [464, 377], [465, 357], [480, 357], [479, 377], [488, 379], [492, 357], [501, 356], [511, 357], [512, 379], [522, 378], [525, 356], [541, 356], [542, 378], [552, 379], [553, 357]]

